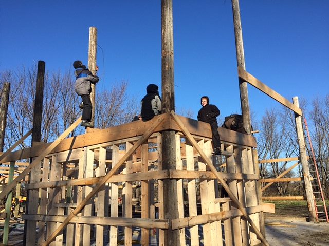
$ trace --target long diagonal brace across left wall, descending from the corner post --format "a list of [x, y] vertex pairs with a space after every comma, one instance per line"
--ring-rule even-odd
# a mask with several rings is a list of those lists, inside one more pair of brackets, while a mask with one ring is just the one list
[[111, 169], [93, 188], [93, 190], [79, 203], [75, 210], [67, 216], [63, 223], [46, 239], [42, 244], [43, 246], [49, 245], [50, 242], [62, 231], [62, 229], [74, 218], [80, 211], [84, 208], [86, 203], [100, 190], [100, 188], [111, 178], [117, 170], [122, 166], [122, 164], [135, 152], [135, 150], [144, 143], [152, 134], [155, 128], [161, 123], [163, 116], [159, 116], [158, 119], [153, 123], [153, 125], [145, 131], [145, 133], [140, 137], [140, 139], [124, 154], [124, 156], [119, 160], [119, 162]]

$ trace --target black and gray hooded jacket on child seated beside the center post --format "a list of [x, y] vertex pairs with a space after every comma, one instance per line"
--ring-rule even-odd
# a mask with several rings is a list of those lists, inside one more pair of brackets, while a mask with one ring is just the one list
[[143, 121], [151, 120], [161, 113], [162, 105], [159, 96], [159, 87], [150, 84], [146, 87], [147, 94], [141, 101], [141, 117]]

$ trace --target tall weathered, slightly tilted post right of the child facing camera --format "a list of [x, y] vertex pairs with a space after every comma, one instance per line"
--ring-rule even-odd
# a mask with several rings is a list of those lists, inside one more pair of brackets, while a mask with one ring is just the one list
[[[237, 66], [238, 67], [243, 66], [243, 68], [246, 70], [245, 54], [244, 54], [244, 50], [243, 50], [239, 0], [232, 0], [232, 9], [233, 9], [233, 22], [234, 22]], [[239, 87], [240, 87], [240, 100], [241, 100], [243, 126], [246, 129], [247, 133], [251, 134], [251, 120], [250, 120], [250, 108], [249, 108], [247, 82], [245, 82], [239, 78]]]

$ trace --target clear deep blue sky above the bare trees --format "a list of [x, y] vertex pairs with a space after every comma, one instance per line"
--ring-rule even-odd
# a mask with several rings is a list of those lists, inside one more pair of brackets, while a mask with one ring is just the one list
[[[98, 30], [99, 89], [127, 80], [138, 98], [161, 85], [161, 1], [9, 1], [0, 3], [0, 70], [50, 71], [87, 63], [89, 27]], [[329, 1], [240, 1], [246, 70], [291, 100], [329, 92]], [[196, 117], [199, 98], [240, 112], [231, 1], [173, 0], [175, 104]], [[72, 73], [73, 76], [73, 73]], [[279, 104], [248, 86], [257, 116]]]

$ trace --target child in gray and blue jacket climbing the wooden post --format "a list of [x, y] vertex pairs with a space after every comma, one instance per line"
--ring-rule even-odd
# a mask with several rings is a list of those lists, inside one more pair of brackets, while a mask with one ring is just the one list
[[93, 128], [94, 125], [90, 123], [92, 118], [92, 101], [90, 101], [91, 83], [96, 84], [99, 78], [90, 72], [81, 61], [75, 61], [73, 66], [76, 69], [74, 72], [76, 76], [75, 91], [82, 98], [82, 122], [80, 125]]

